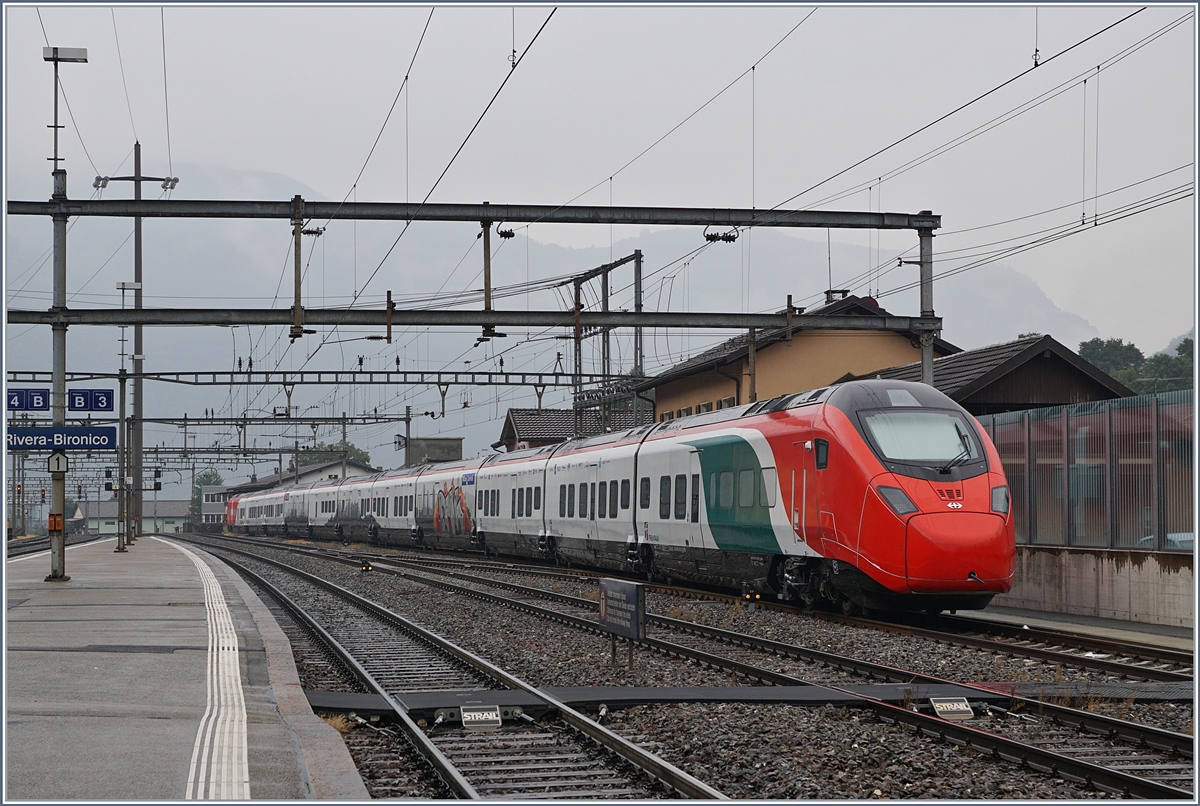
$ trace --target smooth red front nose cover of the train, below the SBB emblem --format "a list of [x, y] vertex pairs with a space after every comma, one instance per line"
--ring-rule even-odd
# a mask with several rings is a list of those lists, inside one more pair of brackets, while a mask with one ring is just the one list
[[906, 572], [917, 594], [1007, 593], [1015, 547], [1008, 524], [985, 512], [931, 512], [908, 518]]

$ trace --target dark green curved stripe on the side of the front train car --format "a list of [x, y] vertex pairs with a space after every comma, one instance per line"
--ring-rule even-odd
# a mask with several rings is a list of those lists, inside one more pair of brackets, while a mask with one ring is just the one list
[[[758, 505], [762, 465], [750, 443], [742, 437], [727, 434], [686, 444], [700, 449], [704, 510], [716, 547], [731, 552], [782, 554], [775, 539], [775, 530], [770, 525], [770, 510]], [[754, 473], [751, 506], [742, 506], [742, 501], [738, 500], [739, 477], [743, 470]], [[720, 506], [722, 473], [732, 474], [726, 481], [732, 485], [732, 495], [726, 498], [732, 506]]]

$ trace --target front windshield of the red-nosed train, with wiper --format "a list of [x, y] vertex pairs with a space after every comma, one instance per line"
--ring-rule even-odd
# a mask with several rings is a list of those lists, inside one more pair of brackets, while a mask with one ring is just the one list
[[983, 457], [973, 431], [956, 411], [876, 409], [863, 411], [863, 425], [889, 462], [958, 467]]

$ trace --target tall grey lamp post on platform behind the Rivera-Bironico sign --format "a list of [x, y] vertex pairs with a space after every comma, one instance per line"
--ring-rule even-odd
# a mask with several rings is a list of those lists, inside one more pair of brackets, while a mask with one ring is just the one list
[[[67, 198], [67, 172], [59, 168], [59, 62], [86, 64], [86, 48], [42, 48], [42, 59], [54, 64], [54, 156], [50, 160], [54, 169], [53, 200], [60, 203]], [[55, 212], [52, 216], [54, 227], [54, 311], [62, 312], [67, 307], [67, 213]], [[52, 329], [53, 383], [50, 409], [53, 425], [62, 428], [67, 425], [67, 326], [55, 323]], [[64, 533], [62, 510], [66, 509], [66, 473], [50, 474], [50, 575], [46, 582], [66, 582], [71, 577], [66, 572], [66, 535]]]

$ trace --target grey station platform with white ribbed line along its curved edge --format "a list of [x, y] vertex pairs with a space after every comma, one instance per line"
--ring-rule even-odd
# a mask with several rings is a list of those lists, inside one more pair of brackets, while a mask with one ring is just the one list
[[5, 801], [368, 800], [290, 645], [216, 558], [144, 536], [6, 570]]

